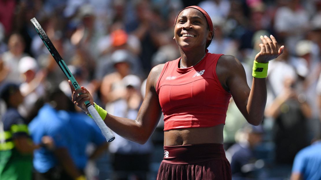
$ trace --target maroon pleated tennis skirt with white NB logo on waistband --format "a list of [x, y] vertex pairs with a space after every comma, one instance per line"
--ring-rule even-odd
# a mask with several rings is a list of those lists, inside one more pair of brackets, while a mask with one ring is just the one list
[[231, 180], [223, 144], [164, 146], [157, 180]]

